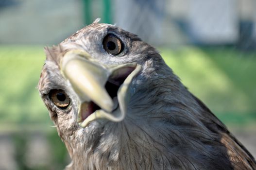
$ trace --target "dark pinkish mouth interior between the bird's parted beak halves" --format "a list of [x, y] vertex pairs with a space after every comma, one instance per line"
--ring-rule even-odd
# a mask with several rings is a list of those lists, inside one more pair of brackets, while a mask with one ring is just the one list
[[[110, 75], [109, 79], [105, 84], [105, 89], [108, 95], [111, 97], [114, 107], [112, 112], [115, 112], [119, 107], [118, 102], [118, 90], [119, 87], [123, 84], [125, 79], [135, 70], [135, 67], [125, 67], [119, 68], [115, 70], [112, 75]], [[91, 114], [96, 112], [97, 110], [101, 110], [102, 108], [93, 101], [84, 102], [81, 107], [81, 118], [78, 122], [83, 122], [86, 118], [88, 118]], [[104, 110], [104, 109], [103, 109]]]

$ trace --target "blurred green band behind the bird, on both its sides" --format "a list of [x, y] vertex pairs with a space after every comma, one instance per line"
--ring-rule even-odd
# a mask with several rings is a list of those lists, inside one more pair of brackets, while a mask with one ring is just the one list
[[[159, 50], [188, 89], [224, 123], [256, 122], [256, 53], [231, 48]], [[41, 46], [0, 46], [1, 130], [50, 128], [36, 89], [44, 59]]]

